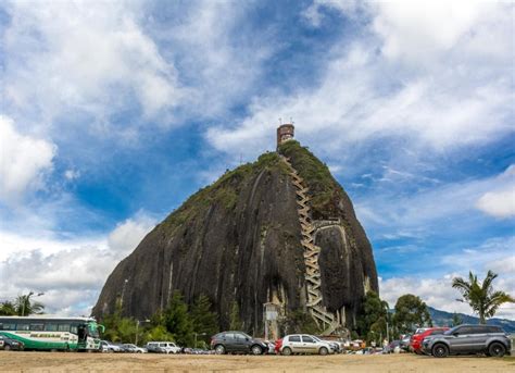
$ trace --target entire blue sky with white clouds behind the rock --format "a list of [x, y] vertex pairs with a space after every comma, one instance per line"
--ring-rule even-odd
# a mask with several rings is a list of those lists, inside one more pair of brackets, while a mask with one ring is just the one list
[[87, 313], [160, 220], [274, 149], [279, 117], [353, 200], [390, 303], [469, 313], [450, 287], [469, 270], [515, 294], [513, 12], [4, 2], [0, 300], [45, 291], [51, 312]]

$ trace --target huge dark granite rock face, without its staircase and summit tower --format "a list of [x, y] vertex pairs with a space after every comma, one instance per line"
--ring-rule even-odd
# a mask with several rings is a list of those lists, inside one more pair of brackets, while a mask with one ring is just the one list
[[[367, 289], [378, 291], [372, 247], [352, 203], [328, 169], [306, 148], [288, 141], [290, 159], [312, 197], [313, 219], [338, 221], [317, 231], [324, 302], [342, 310], [352, 327]], [[305, 308], [303, 248], [296, 188], [277, 153], [224, 174], [192, 195], [150, 232], [111, 273], [92, 314], [139, 320], [166, 307], [174, 290], [192, 302], [203, 294], [228, 327], [234, 301], [249, 332], [260, 333], [263, 303]]]

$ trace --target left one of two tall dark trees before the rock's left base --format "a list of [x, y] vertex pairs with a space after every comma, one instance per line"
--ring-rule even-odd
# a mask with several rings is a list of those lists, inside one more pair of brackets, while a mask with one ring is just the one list
[[166, 331], [181, 346], [193, 345], [193, 325], [188, 313], [188, 304], [179, 291], [174, 291], [168, 307], [163, 312]]

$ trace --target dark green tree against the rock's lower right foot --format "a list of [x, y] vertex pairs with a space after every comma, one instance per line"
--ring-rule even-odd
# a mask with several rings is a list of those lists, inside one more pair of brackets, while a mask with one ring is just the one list
[[380, 343], [380, 337], [387, 335], [388, 321], [388, 302], [381, 300], [377, 293], [368, 291], [363, 301], [360, 318], [356, 321], [359, 334], [367, 341]]

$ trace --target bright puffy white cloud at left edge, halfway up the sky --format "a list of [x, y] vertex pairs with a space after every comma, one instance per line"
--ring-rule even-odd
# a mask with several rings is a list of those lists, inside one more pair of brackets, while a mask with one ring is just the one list
[[27, 189], [41, 187], [55, 153], [52, 142], [18, 133], [10, 117], [0, 115], [0, 200], [12, 204]]

